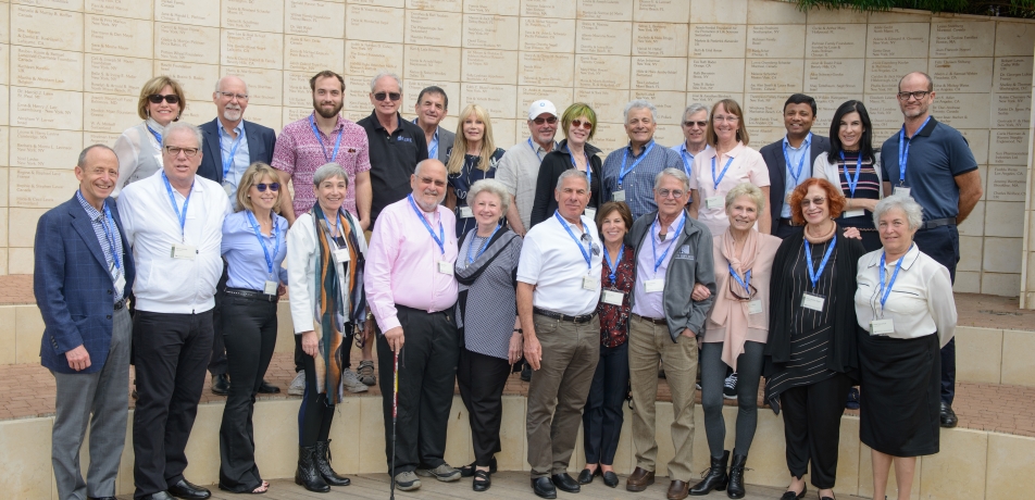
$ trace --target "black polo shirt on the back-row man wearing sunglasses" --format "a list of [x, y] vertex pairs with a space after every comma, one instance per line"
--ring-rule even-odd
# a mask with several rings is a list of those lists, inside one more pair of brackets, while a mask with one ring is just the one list
[[356, 122], [366, 130], [370, 142], [370, 182], [374, 193], [371, 203], [371, 228], [377, 215], [391, 203], [407, 197], [410, 176], [421, 161], [427, 160], [427, 140], [424, 130], [396, 113], [399, 125], [390, 135], [377, 120], [376, 113]]

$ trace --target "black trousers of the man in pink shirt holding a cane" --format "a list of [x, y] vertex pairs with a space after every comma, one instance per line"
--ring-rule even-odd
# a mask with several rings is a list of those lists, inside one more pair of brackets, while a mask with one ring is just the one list
[[[399, 412], [396, 474], [435, 468], [445, 460], [446, 427], [460, 358], [460, 334], [452, 311], [427, 313], [396, 305], [406, 345], [399, 353]], [[394, 354], [378, 332], [377, 370], [385, 413], [385, 455], [391, 471]]]

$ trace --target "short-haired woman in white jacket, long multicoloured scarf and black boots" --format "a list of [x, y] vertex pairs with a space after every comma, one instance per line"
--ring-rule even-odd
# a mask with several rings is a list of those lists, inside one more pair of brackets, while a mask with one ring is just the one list
[[363, 289], [366, 238], [359, 220], [341, 208], [349, 189], [348, 178], [337, 163], [316, 168], [316, 203], [299, 215], [287, 235], [295, 342], [305, 353], [295, 483], [317, 492], [329, 491], [329, 486], [349, 485], [347, 477], [331, 468], [331, 422], [335, 404], [341, 401], [346, 389], [366, 390], [354, 377], [347, 384], [348, 342], [354, 332], [371, 326]]

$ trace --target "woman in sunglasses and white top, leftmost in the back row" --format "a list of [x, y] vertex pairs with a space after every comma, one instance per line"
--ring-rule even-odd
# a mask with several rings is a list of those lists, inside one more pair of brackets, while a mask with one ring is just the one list
[[119, 157], [119, 180], [112, 196], [117, 197], [126, 185], [162, 170], [162, 134], [186, 109], [184, 89], [176, 80], [155, 76], [144, 84], [137, 100], [137, 115], [144, 122], [122, 133], [112, 148]]

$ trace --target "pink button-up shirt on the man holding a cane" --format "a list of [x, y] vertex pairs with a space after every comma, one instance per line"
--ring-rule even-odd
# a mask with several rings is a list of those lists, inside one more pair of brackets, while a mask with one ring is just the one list
[[457, 303], [457, 279], [439, 272], [457, 262], [457, 216], [439, 205], [433, 213], [421, 212], [438, 236], [445, 235], [445, 253], [432, 238], [408, 198], [385, 208], [371, 234], [363, 284], [366, 302], [382, 332], [400, 326], [396, 304], [437, 312]]

